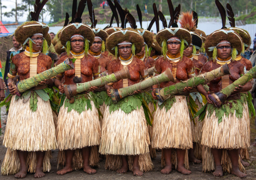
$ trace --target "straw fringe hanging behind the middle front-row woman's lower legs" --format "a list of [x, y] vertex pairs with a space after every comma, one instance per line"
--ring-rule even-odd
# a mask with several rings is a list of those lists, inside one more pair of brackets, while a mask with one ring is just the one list
[[[129, 170], [133, 171], [133, 156], [127, 157], [129, 163]], [[120, 155], [106, 155], [105, 169], [109, 170], [118, 170], [122, 166], [122, 160]], [[153, 170], [154, 165], [151, 161], [149, 152], [140, 154], [139, 157], [139, 166], [142, 172], [148, 172]]]

